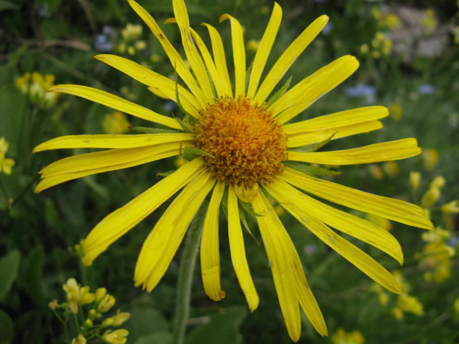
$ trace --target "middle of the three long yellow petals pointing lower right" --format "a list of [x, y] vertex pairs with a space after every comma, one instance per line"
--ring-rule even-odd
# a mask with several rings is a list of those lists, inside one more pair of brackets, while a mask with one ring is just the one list
[[265, 185], [265, 189], [281, 204], [291, 203], [308, 209], [319, 221], [375, 246], [391, 255], [400, 264], [403, 264], [403, 253], [400, 244], [385, 229], [377, 227], [360, 217], [314, 200], [280, 178], [276, 178], [272, 183]]

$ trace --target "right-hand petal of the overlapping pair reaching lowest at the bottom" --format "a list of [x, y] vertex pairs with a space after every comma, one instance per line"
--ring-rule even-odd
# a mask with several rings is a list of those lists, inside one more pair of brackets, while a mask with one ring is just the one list
[[261, 193], [261, 196], [263, 198], [263, 202], [266, 206], [266, 209], [268, 209], [269, 216], [271, 217], [272, 221], [277, 227], [276, 229], [279, 231], [280, 236], [282, 237], [287, 246], [288, 251], [286, 253], [288, 253], [288, 255], [290, 256], [292, 268], [295, 272], [295, 286], [297, 289], [297, 296], [300, 305], [304, 313], [308, 317], [309, 321], [316, 329], [316, 331], [319, 332], [321, 336], [327, 336], [328, 332], [327, 326], [325, 325], [324, 316], [322, 315], [322, 312], [319, 309], [319, 305], [317, 304], [317, 301], [311, 289], [309, 288], [308, 281], [306, 280], [306, 276], [304, 275], [301, 260], [298, 256], [298, 252], [295, 248], [295, 245], [291, 241], [291, 238], [285, 230], [284, 225], [282, 224], [282, 222], [280, 222], [280, 219], [276, 215], [271, 203], [269, 203], [269, 200], [263, 193]]

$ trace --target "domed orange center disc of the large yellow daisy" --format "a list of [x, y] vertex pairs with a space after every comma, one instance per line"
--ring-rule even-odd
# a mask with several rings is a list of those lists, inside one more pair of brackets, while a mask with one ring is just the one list
[[241, 95], [224, 96], [199, 111], [196, 148], [215, 156], [205, 157], [215, 178], [251, 188], [273, 180], [287, 160], [287, 135], [266, 103], [258, 106]]

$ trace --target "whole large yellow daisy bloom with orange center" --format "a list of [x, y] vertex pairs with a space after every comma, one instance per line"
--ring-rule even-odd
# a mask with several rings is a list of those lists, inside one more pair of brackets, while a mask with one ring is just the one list
[[362, 218], [325, 205], [299, 189], [359, 211], [416, 227], [431, 228], [423, 210], [405, 201], [368, 194], [316, 178], [314, 173], [320, 175], [320, 171], [325, 170], [294, 161], [351, 165], [403, 159], [420, 154], [416, 140], [400, 139], [349, 150], [312, 151], [311, 147], [317, 148], [317, 143], [326, 142], [333, 134], [332, 139], [338, 139], [381, 128], [378, 119], [388, 115], [387, 109], [382, 106], [341, 111], [285, 124], [348, 78], [358, 67], [358, 61], [353, 56], [343, 56], [290, 90], [283, 92], [281, 89], [268, 98], [298, 55], [324, 28], [328, 17], [321, 16], [310, 24], [282, 53], [259, 85], [280, 25], [280, 6], [274, 3], [250, 75], [246, 74], [241, 25], [229, 14], [222, 15], [220, 22], [229, 20], [231, 25], [235, 64], [233, 90], [220, 35], [213, 26], [202, 23], [210, 34], [212, 56], [198, 33], [190, 28], [183, 0], [173, 1], [175, 18], [168, 19], [166, 23], [177, 23], [191, 71], [150, 14], [134, 0], [128, 1], [157, 37], [189, 90], [122, 57], [97, 55], [96, 58], [146, 84], [153, 92], [159, 91], [176, 101], [190, 117], [180, 122], [86, 86], [58, 85], [50, 91], [78, 95], [185, 132], [71, 135], [51, 139], [35, 147], [34, 152], [62, 148], [110, 150], [71, 156], [46, 166], [40, 171], [43, 179], [36, 191], [94, 173], [177, 156], [186, 150], [185, 147], [200, 152], [200, 156], [187, 161], [177, 171], [102, 219], [84, 240], [84, 264], [90, 265], [110, 244], [184, 188], [146, 238], [137, 260], [135, 285], [151, 291], [166, 272], [202, 201], [212, 191], [201, 242], [202, 280], [206, 294], [212, 300], [221, 300], [225, 296], [220, 285], [218, 253], [218, 214], [220, 204], [225, 202], [235, 272], [250, 310], [254, 311], [258, 306], [258, 294], [247, 264], [239, 221], [239, 202], [251, 203], [253, 210], [262, 215], [257, 216], [257, 222], [291, 339], [297, 341], [300, 337], [300, 305], [316, 330], [326, 335], [324, 318], [308, 287], [297, 250], [267, 198], [270, 194], [325, 244], [386, 289], [401, 293], [399, 283], [383, 266], [330, 227], [372, 244], [402, 263], [400, 244], [392, 234]]

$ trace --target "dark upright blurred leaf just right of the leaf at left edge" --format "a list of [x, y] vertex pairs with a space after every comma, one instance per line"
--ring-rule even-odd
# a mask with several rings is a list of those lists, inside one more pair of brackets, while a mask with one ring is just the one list
[[35, 247], [24, 260], [21, 274], [21, 288], [24, 289], [32, 300], [39, 305], [44, 305], [43, 298], [43, 265], [45, 252], [42, 246]]

